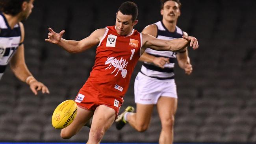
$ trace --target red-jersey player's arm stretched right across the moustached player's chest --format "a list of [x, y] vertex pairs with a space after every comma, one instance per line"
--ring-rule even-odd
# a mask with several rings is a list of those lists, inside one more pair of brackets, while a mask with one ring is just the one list
[[190, 44], [195, 50], [198, 48], [198, 41], [195, 37], [186, 37], [174, 39], [171, 41], [156, 39], [155, 37], [142, 33], [143, 48], [152, 48], [160, 51], [179, 51]]

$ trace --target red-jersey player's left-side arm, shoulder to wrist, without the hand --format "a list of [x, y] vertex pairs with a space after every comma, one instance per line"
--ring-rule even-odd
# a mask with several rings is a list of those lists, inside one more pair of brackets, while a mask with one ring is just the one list
[[89, 35], [89, 37], [86, 37], [81, 41], [61, 39], [58, 45], [70, 53], [83, 52], [84, 50], [87, 50], [92, 46], [97, 45], [100, 42], [100, 39], [103, 37], [105, 32], [106, 32], [106, 29], [95, 30], [93, 31], [93, 33], [91, 33], [91, 35]]

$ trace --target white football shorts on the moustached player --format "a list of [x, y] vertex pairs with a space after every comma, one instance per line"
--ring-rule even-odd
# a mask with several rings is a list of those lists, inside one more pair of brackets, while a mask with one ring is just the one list
[[160, 96], [178, 98], [175, 80], [150, 78], [139, 72], [134, 82], [135, 103], [156, 104]]

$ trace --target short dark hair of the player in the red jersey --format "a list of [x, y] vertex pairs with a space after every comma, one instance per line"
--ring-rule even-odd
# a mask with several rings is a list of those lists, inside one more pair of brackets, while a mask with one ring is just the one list
[[117, 12], [121, 11], [124, 15], [132, 15], [132, 21], [137, 20], [138, 7], [134, 2], [124, 2], [118, 8]]

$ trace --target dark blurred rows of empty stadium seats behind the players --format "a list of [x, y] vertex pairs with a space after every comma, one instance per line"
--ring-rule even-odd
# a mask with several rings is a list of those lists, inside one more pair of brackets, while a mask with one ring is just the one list
[[[85, 142], [84, 127], [70, 140], [62, 140], [51, 126], [55, 107], [74, 99], [94, 65], [95, 49], [69, 54], [44, 41], [48, 27], [65, 30], [63, 38], [81, 40], [98, 28], [115, 25], [124, 0], [35, 0], [25, 25], [25, 57], [35, 78], [50, 94], [33, 96], [8, 68], [0, 81], [0, 141]], [[134, 0], [139, 23], [161, 20], [158, 0]], [[178, 26], [198, 38], [199, 49], [189, 48], [193, 74], [176, 67], [178, 111], [174, 142], [256, 142], [256, 1], [181, 0]], [[124, 105], [134, 104], [134, 78]], [[150, 128], [138, 133], [130, 126], [112, 126], [102, 142], [158, 142], [161, 123], [156, 109]]]

